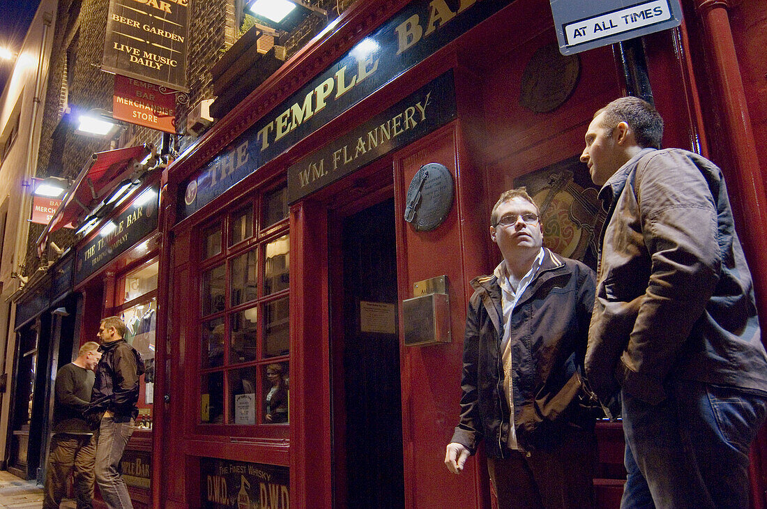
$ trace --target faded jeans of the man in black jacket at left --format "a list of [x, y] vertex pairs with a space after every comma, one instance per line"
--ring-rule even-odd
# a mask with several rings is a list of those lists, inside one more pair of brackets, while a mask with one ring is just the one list
[[[123, 419], [119, 419], [123, 420]], [[128, 488], [118, 467], [123, 451], [133, 435], [134, 422], [131, 418], [127, 422], [115, 422], [113, 417], [102, 417], [101, 425], [94, 435], [96, 440], [96, 484], [101, 493], [101, 498], [110, 509], [123, 509], [130, 507]]]

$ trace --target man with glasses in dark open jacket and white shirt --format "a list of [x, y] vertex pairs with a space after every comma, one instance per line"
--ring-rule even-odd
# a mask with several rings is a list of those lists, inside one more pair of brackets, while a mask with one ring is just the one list
[[461, 415], [445, 464], [459, 474], [485, 438], [502, 509], [592, 507], [594, 419], [579, 405], [578, 366], [594, 272], [542, 248], [538, 207], [524, 188], [501, 195], [491, 222], [503, 261], [472, 281]]

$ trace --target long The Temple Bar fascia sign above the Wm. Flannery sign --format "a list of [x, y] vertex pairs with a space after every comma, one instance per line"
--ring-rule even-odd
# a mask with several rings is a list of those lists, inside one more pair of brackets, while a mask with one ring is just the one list
[[183, 182], [179, 221], [512, 0], [414, 0]]

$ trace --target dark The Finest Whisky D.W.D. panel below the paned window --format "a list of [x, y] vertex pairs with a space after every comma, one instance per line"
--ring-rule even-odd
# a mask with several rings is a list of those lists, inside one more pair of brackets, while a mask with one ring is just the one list
[[288, 468], [246, 461], [199, 458], [199, 507], [290, 509]]

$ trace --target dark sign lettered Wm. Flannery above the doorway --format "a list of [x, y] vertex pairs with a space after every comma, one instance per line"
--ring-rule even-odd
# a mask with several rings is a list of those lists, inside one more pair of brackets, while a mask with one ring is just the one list
[[288, 168], [288, 203], [335, 182], [456, 117], [449, 71], [384, 113]]

